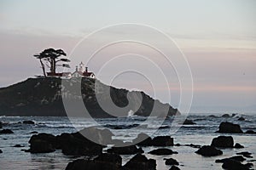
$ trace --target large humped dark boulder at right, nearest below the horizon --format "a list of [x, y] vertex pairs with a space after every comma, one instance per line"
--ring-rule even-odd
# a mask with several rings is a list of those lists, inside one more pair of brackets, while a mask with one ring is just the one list
[[217, 133], [242, 133], [241, 127], [231, 122], [221, 122]]

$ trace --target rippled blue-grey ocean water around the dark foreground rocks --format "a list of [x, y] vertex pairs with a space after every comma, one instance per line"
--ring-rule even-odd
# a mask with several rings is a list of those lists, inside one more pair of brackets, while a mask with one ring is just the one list
[[[235, 156], [237, 152], [249, 151], [253, 154], [253, 158], [247, 158], [248, 160], [256, 159], [256, 135], [255, 134], [228, 134], [228, 133], [215, 133], [218, 130], [220, 122], [234, 122], [240, 124], [243, 132], [247, 130], [256, 131], [256, 114], [236, 114], [236, 116], [224, 118], [220, 117], [220, 114], [215, 114], [218, 117], [211, 117], [205, 114], [193, 115], [190, 114], [187, 118], [193, 120], [195, 125], [183, 125], [179, 126], [173, 122], [172, 117], [166, 119], [161, 125], [161, 128], [155, 127], [159, 119], [152, 117], [149, 124], [143, 124], [140, 128], [129, 128], [135, 125], [139, 125], [145, 122], [146, 117], [142, 116], [130, 116], [118, 119], [96, 119], [96, 122], [105, 127], [119, 126], [123, 129], [112, 130], [115, 134], [115, 139], [124, 139], [125, 141], [131, 141], [131, 139], [137, 136], [137, 133], [151, 133], [153, 136], [171, 135], [174, 138], [175, 144], [211, 144], [213, 138], [219, 135], [231, 135], [235, 140], [235, 143], [240, 143], [245, 146], [244, 149], [222, 149], [223, 156], [203, 157], [195, 154], [198, 149], [189, 146], [172, 146], [166, 147], [178, 152], [177, 155], [172, 156], [152, 156], [148, 154], [148, 151], [156, 149], [156, 147], [143, 147], [145, 155], [148, 158], [153, 158], [157, 161], [157, 169], [167, 170], [170, 166], [165, 165], [164, 158], [175, 158], [180, 163], [181, 169], [222, 169], [221, 163], [215, 163], [216, 159], [222, 159], [224, 157]], [[238, 117], [243, 116], [246, 121], [238, 121]], [[180, 117], [182, 120], [183, 116]], [[35, 125], [27, 125], [19, 122], [25, 120], [32, 120], [36, 122]], [[19, 170], [32, 170], [32, 169], [65, 169], [67, 163], [78, 159], [75, 156], [65, 156], [61, 153], [61, 150], [56, 150], [53, 153], [45, 154], [31, 154], [21, 149], [29, 149], [28, 140], [31, 138], [32, 131], [38, 133], [52, 133], [54, 135], [61, 133], [73, 133], [84, 127], [90, 127], [95, 125], [90, 120], [84, 120], [81, 118], [73, 118], [72, 122], [67, 117], [8, 117], [1, 116], [0, 122], [7, 123], [3, 128], [9, 128], [14, 131], [14, 134], [1, 134], [0, 135], [0, 149], [3, 153], [0, 154], [0, 170], [3, 169], [19, 169]], [[177, 132], [173, 133], [172, 128], [179, 127]], [[171, 130], [171, 131], [170, 131]], [[15, 148], [15, 144], [22, 144], [25, 147]], [[129, 161], [131, 156], [122, 156], [123, 164]], [[83, 156], [82, 156], [83, 157]], [[246, 161], [245, 161], [246, 162]], [[253, 161], [255, 167], [255, 161]]]

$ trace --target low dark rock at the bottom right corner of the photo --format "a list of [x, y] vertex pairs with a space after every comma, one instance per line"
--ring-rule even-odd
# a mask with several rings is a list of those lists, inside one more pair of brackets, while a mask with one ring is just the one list
[[222, 167], [224, 169], [228, 169], [228, 170], [248, 170], [250, 169], [250, 167], [252, 166], [252, 164], [241, 164], [240, 161], [236, 161], [236, 160], [227, 160], [224, 161], [224, 164], [222, 165]]

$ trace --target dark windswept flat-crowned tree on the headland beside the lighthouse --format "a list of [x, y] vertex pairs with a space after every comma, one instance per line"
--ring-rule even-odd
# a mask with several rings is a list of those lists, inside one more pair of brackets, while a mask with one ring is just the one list
[[[67, 64], [70, 62], [70, 60], [63, 58], [64, 56], [67, 56], [67, 54], [62, 49], [48, 48], [44, 49], [44, 51], [40, 54], [34, 54], [33, 56], [40, 60], [44, 77], [46, 77], [44, 65], [49, 67], [50, 74], [55, 74], [57, 66], [70, 68], [70, 66]], [[58, 64], [60, 62], [61, 64]]]

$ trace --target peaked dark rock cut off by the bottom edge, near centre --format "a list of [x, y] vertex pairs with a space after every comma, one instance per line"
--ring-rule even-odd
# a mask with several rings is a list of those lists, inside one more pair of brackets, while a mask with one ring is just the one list
[[156, 161], [154, 159], [148, 159], [146, 156], [137, 154], [128, 161], [125, 168], [130, 170], [155, 170]]

